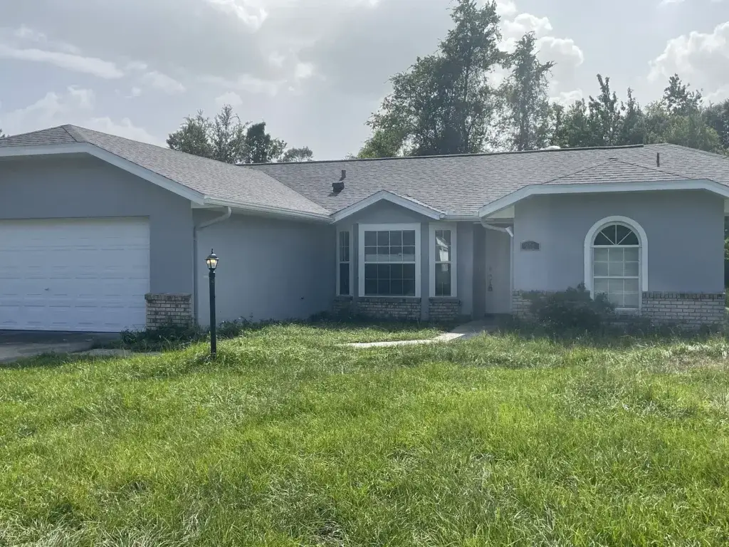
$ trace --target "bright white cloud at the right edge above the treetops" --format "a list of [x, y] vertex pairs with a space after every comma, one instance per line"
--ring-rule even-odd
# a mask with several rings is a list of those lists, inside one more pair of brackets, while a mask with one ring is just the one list
[[693, 31], [668, 40], [666, 49], [650, 62], [648, 78], [655, 82], [679, 74], [706, 95], [729, 82], [729, 21], [711, 33]]

